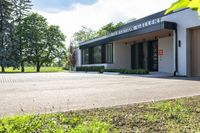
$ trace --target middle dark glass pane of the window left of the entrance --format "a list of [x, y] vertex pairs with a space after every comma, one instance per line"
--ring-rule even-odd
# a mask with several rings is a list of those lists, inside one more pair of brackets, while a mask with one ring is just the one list
[[93, 59], [94, 59], [94, 64], [101, 64], [102, 63], [102, 47], [101, 46], [96, 46], [94, 47], [94, 54], [93, 54]]

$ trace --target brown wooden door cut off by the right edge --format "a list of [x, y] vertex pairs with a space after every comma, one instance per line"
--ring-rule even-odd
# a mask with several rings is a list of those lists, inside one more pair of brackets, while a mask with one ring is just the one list
[[200, 28], [191, 31], [191, 74], [200, 76]]

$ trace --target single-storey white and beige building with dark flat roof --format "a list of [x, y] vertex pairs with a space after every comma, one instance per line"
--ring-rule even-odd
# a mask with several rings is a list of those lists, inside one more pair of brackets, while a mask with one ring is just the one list
[[200, 76], [200, 18], [196, 11], [165, 11], [130, 22], [100, 38], [81, 42], [77, 66], [148, 69]]

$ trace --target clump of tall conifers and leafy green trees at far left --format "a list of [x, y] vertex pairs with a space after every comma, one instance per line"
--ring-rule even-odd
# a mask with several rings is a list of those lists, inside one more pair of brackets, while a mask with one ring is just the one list
[[[58, 26], [48, 25], [46, 18], [31, 12], [31, 0], [0, 0], [0, 67], [19, 68], [66, 59], [65, 36]], [[66, 64], [66, 63], [65, 63]]]

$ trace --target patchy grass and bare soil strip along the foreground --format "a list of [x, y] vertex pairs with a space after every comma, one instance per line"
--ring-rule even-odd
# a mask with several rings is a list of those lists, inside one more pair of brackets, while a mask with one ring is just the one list
[[0, 120], [0, 132], [200, 133], [200, 96]]

